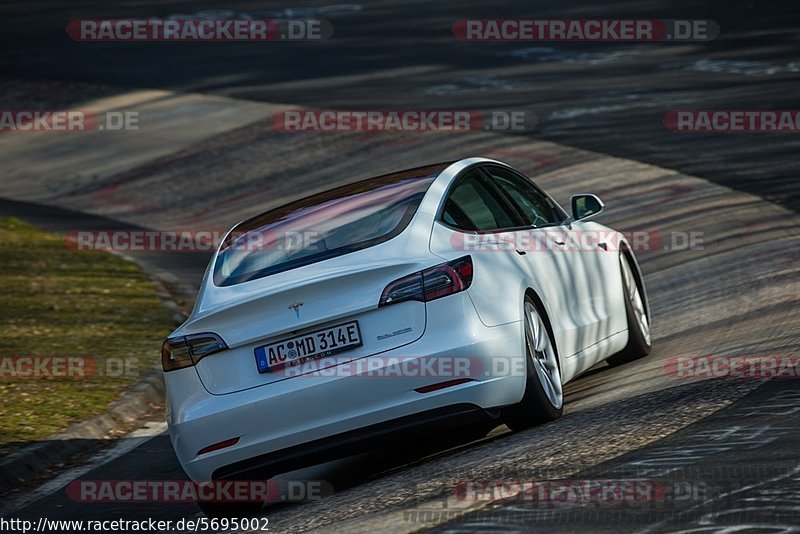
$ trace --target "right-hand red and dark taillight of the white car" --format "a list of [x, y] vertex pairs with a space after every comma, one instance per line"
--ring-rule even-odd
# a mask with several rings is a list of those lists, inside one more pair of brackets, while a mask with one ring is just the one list
[[472, 258], [464, 256], [398, 278], [383, 290], [378, 306], [407, 300], [428, 302], [464, 291], [472, 284]]

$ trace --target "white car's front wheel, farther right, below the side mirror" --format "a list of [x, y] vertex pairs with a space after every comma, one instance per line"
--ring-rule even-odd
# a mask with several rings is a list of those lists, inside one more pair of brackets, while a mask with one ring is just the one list
[[628, 318], [628, 344], [607, 360], [609, 365], [621, 365], [647, 356], [651, 348], [650, 317], [647, 316], [641, 282], [633, 274], [631, 260], [625, 254], [619, 255], [619, 266]]

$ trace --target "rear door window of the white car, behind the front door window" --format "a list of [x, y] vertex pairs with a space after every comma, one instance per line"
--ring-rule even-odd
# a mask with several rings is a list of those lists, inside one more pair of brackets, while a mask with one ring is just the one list
[[477, 170], [459, 178], [447, 197], [442, 219], [461, 230], [497, 230], [516, 226], [502, 200]]

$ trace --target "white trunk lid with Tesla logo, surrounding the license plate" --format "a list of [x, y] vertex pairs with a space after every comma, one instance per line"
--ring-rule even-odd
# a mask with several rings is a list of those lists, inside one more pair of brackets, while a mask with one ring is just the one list
[[[402, 302], [378, 308], [393, 280], [422, 270], [434, 257], [376, 260], [379, 245], [230, 287], [206, 288], [202, 306], [181, 334], [214, 332], [229, 350], [195, 366], [204, 387], [222, 395], [287, 380], [314, 370], [402, 347], [425, 331], [425, 304]], [[256, 349], [357, 321], [361, 346], [308, 361], [259, 372]], [[263, 356], [264, 352], [261, 353]], [[307, 373], [303, 368], [311, 368]]]

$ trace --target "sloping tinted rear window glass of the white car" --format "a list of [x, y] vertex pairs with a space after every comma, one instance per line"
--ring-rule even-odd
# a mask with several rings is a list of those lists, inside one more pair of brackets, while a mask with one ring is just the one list
[[375, 246], [400, 234], [447, 163], [325, 191], [237, 225], [214, 283], [230, 286]]

